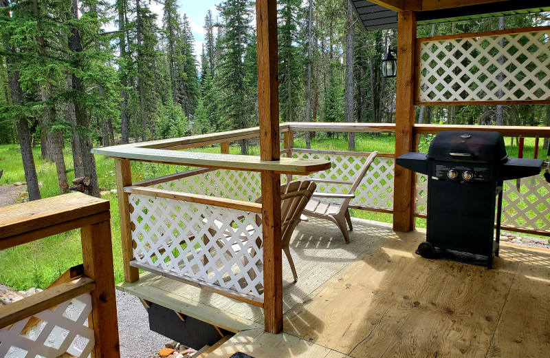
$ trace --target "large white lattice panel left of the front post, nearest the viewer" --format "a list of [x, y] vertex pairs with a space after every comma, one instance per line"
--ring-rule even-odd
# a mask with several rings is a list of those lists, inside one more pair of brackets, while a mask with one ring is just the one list
[[135, 260], [263, 298], [262, 229], [257, 214], [153, 196], [129, 198]]

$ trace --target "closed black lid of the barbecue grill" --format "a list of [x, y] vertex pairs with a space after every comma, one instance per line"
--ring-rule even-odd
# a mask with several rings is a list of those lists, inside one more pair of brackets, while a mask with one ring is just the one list
[[508, 154], [498, 131], [441, 131], [432, 140], [426, 158], [501, 164]]

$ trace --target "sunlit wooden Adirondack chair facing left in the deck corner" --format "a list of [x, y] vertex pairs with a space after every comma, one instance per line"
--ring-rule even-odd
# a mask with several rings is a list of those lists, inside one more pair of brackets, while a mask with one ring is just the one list
[[[315, 179], [309, 178], [312, 182], [325, 182], [330, 184], [349, 185], [349, 194], [334, 194], [334, 193], [314, 193], [311, 200], [309, 200], [307, 206], [304, 209], [304, 215], [311, 216], [312, 218], [327, 219], [334, 222], [342, 234], [346, 243], [349, 244], [349, 234], [346, 227], [346, 222], [349, 225], [349, 229], [353, 230], [351, 226], [351, 218], [349, 216], [349, 202], [355, 198], [355, 190], [359, 187], [361, 180], [369, 170], [373, 160], [376, 158], [378, 152], [373, 151], [370, 156], [366, 158], [366, 161], [360, 171], [355, 176], [355, 180], [343, 181], [343, 180], [331, 180], [331, 179]], [[337, 201], [338, 200], [338, 201]]]

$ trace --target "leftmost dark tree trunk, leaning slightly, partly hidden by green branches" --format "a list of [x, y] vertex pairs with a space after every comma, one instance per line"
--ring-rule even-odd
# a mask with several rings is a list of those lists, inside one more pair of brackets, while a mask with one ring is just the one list
[[[10, 17], [8, 0], [0, 0], [0, 13], [5, 17]], [[5, 9], [4, 9], [5, 8]], [[12, 71], [11, 67], [14, 63], [12, 56], [15, 54], [15, 48], [10, 47], [10, 37], [3, 36], [3, 50], [5, 56], [5, 67], [8, 74], [8, 83], [10, 85], [10, 94], [12, 95], [12, 104], [23, 107], [25, 100], [23, 99], [23, 90], [19, 82], [19, 72]], [[16, 118], [17, 134], [19, 134], [19, 148], [21, 149], [21, 158], [23, 159], [23, 171], [25, 171], [25, 180], [27, 182], [27, 191], [29, 192], [29, 200], [40, 199], [39, 180], [36, 176], [36, 167], [34, 166], [34, 156], [32, 155], [32, 143], [29, 131], [29, 123], [25, 116], [19, 114]]]

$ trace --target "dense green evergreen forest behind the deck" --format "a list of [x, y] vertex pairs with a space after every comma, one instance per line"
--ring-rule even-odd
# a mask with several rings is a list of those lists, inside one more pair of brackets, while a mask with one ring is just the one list
[[[55, 163], [61, 193], [74, 171], [99, 196], [92, 147], [258, 125], [254, 1], [205, 11], [197, 51], [186, 2], [156, 2], [155, 13], [143, 0], [0, 0], [0, 145], [21, 147], [30, 200], [40, 198], [32, 147]], [[539, 13], [437, 23], [417, 36], [548, 21]], [[395, 78], [382, 78], [381, 66], [396, 43], [396, 29], [366, 31], [349, 0], [279, 0], [281, 122], [395, 121]], [[416, 118], [550, 125], [550, 105], [419, 106]], [[250, 153], [248, 140], [239, 143]]]

